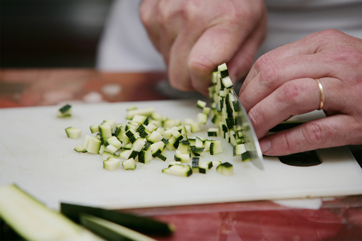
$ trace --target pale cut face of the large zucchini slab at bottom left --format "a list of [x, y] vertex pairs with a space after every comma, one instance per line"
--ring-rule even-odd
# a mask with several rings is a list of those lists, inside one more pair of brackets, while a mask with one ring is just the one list
[[0, 216], [26, 240], [102, 240], [15, 185], [0, 188]]

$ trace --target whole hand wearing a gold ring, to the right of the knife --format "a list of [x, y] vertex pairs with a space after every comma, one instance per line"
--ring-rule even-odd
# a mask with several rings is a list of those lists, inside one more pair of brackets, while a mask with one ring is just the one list
[[[310, 34], [261, 56], [239, 99], [263, 154], [288, 155], [362, 143], [362, 39], [338, 30]], [[319, 108], [319, 78], [327, 117], [265, 136], [292, 115]]]

